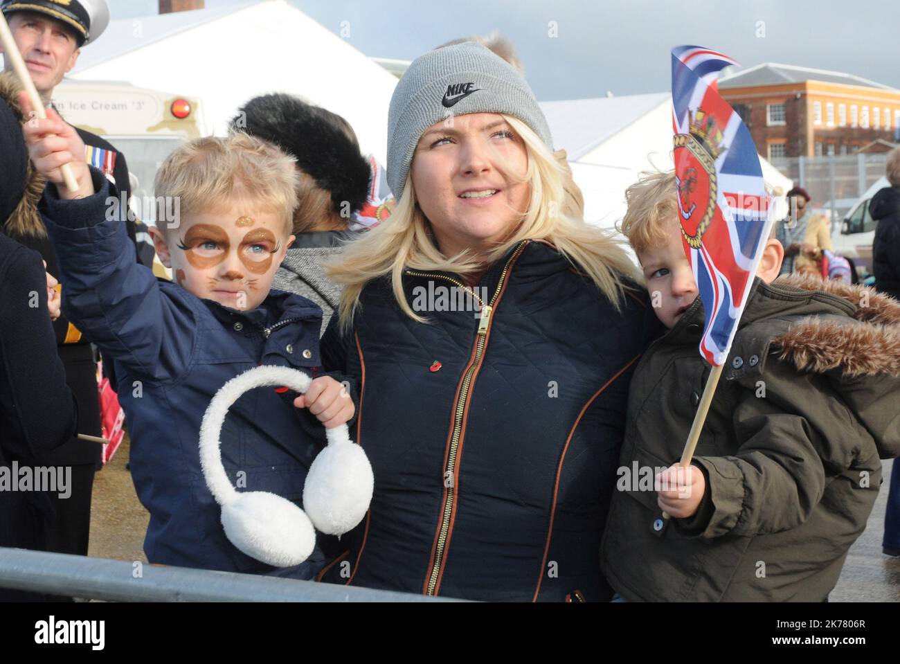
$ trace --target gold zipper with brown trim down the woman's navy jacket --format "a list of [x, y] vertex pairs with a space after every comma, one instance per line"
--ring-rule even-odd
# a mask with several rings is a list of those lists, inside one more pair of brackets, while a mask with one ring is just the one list
[[[503, 272], [500, 273], [500, 282], [497, 283], [497, 288], [494, 290], [494, 294], [493, 297], [491, 297], [490, 304], [485, 304], [482, 299], [479, 298], [478, 295], [476, 295], [475, 292], [464, 283], [459, 282], [444, 274], [415, 272], [413, 270], [405, 271], [405, 274], [410, 274], [410, 276], [433, 277], [436, 279], [445, 279], [448, 282], [455, 283], [460, 288], [471, 292], [473, 298], [479, 301], [479, 303], [482, 305], [482, 316], [478, 321], [478, 332], [475, 335], [475, 357], [472, 364], [469, 365], [469, 368], [464, 373], [463, 384], [459, 390], [459, 399], [456, 402], [453, 435], [450, 438], [450, 453], [447, 454], [447, 464], [446, 468], [444, 469], [444, 477], [455, 477], [456, 451], [459, 448], [460, 436], [463, 430], [463, 415], [465, 412], [465, 404], [469, 397], [469, 389], [472, 385], [473, 374], [481, 366], [482, 360], [484, 359], [484, 345], [488, 337], [488, 326], [491, 322], [491, 314], [494, 310], [494, 304], [500, 297], [500, 291], [503, 289], [503, 284], [506, 283], [507, 274], [509, 273], [509, 266], [512, 265], [513, 261], [516, 260], [519, 254], [522, 253], [522, 249], [525, 248], [527, 242], [527, 240], [523, 240], [518, 245], [518, 247], [516, 247], [516, 250], [513, 252], [512, 256], [509, 256], [506, 265], [503, 266]], [[437, 588], [437, 579], [440, 576], [441, 565], [444, 562], [444, 547], [446, 545], [447, 534], [450, 531], [450, 515], [453, 514], [453, 506], [455, 500], [455, 482], [450, 487], [448, 487], [448, 489], [449, 490], [447, 491], [446, 502], [444, 503], [444, 511], [441, 514], [440, 534], [438, 534], [437, 537], [435, 558], [431, 566], [431, 572], [428, 576], [428, 588], [425, 593], [428, 596], [435, 595]]]

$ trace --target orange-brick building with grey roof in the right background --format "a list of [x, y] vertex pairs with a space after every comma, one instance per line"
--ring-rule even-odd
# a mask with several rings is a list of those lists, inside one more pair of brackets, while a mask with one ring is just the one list
[[763, 63], [719, 81], [763, 157], [851, 155], [900, 135], [900, 90], [860, 76]]

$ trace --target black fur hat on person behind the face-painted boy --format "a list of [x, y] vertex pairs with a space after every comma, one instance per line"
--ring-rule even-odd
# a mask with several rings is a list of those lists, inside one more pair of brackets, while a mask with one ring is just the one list
[[347, 136], [347, 130], [353, 130], [339, 115], [292, 94], [263, 94], [238, 109], [230, 128], [275, 143], [296, 158], [303, 173], [331, 193], [334, 211], [340, 213], [344, 201], [351, 212], [365, 204], [369, 163], [356, 140]]

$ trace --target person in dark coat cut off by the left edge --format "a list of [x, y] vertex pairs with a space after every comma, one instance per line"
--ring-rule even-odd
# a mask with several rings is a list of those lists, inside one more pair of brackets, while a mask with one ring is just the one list
[[[21, 211], [28, 157], [19, 123], [0, 101], [0, 220]], [[14, 491], [13, 469], [41, 465], [39, 457], [76, 431], [77, 408], [66, 385], [48, 312], [48, 281], [40, 256], [0, 235], [0, 547], [46, 550], [54, 510], [50, 494]], [[0, 601], [36, 600], [35, 593], [0, 588]]]

